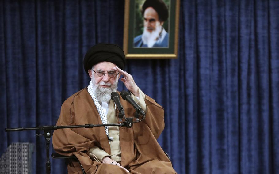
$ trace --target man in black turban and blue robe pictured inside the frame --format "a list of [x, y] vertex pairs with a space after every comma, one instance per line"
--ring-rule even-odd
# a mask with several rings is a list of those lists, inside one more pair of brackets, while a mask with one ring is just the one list
[[169, 34], [162, 26], [169, 13], [162, 0], [146, 0], [142, 6], [143, 34], [134, 38], [134, 47], [168, 47]]

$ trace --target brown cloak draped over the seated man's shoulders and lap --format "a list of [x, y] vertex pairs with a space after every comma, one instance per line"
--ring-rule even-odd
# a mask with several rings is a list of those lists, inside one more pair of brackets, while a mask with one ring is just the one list
[[[126, 117], [135, 110], [120, 97]], [[176, 173], [170, 160], [157, 142], [164, 129], [164, 109], [149, 96], [145, 96], [146, 117], [132, 128], [120, 127], [121, 166], [134, 174]], [[116, 115], [117, 116], [117, 115]], [[100, 115], [87, 88], [69, 97], [61, 107], [57, 126], [102, 124]], [[90, 158], [89, 149], [98, 146], [111, 154], [104, 127], [57, 129], [53, 133], [54, 150], [65, 156], [75, 155], [88, 174], [125, 173], [116, 165], [103, 164]], [[92, 157], [92, 156], [91, 156]], [[77, 161], [68, 164], [69, 173], [82, 173]]]

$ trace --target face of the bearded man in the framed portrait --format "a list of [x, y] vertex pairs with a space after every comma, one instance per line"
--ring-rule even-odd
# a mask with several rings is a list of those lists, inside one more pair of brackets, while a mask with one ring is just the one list
[[159, 15], [152, 7], [145, 9], [143, 13], [144, 27], [147, 32], [153, 32], [156, 27], [161, 26], [162, 22], [159, 21]]

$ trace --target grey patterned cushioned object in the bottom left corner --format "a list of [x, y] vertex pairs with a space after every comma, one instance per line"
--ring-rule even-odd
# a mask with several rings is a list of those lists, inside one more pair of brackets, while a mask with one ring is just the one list
[[29, 174], [31, 157], [34, 149], [32, 143], [12, 143], [0, 158], [0, 174]]

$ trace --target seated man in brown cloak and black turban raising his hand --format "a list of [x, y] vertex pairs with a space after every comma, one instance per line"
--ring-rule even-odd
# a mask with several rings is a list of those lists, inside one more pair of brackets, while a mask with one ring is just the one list
[[[90, 83], [63, 103], [57, 125], [119, 123], [118, 109], [110, 94], [116, 91], [121, 75], [121, 81], [145, 111], [145, 119], [132, 128], [57, 129], [53, 147], [62, 155], [75, 155], [90, 174], [176, 173], [156, 140], [164, 128], [164, 110], [138, 88], [132, 76], [123, 71], [124, 66], [125, 55], [120, 47], [113, 44], [91, 47], [84, 58]], [[135, 112], [132, 105], [121, 97], [120, 102], [125, 115], [132, 116]], [[69, 173], [81, 171], [77, 161], [70, 161]]]

